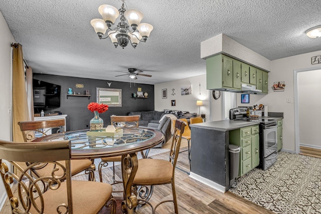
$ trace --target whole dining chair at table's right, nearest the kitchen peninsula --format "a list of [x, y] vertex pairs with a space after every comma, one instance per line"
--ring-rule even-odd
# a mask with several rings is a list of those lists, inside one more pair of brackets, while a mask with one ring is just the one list
[[170, 149], [170, 158], [168, 160], [164, 159], [139, 159], [138, 160], [138, 168], [133, 180], [133, 186], [136, 189], [134, 192], [136, 195], [142, 195], [144, 192], [140, 192], [139, 189], [141, 186], [151, 186], [150, 194], [147, 196], [147, 199], [139, 199], [140, 204], [147, 202], [150, 206], [151, 204], [147, 201], [152, 194], [152, 189], [154, 185], [162, 185], [162, 184], [172, 184], [172, 192], [173, 192], [173, 200], [164, 200], [156, 204], [153, 208], [152, 213], [155, 212], [156, 208], [165, 202], [174, 202], [175, 213], [178, 214], [178, 204], [175, 190], [175, 168], [177, 163], [177, 158], [180, 153], [181, 140], [184, 133], [184, 128], [187, 127], [187, 123], [182, 120], [176, 120], [175, 122], [175, 131]]

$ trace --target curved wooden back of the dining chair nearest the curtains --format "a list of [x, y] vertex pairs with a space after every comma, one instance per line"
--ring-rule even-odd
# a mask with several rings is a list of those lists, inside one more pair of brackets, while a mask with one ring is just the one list
[[54, 129], [57, 129], [56, 133], [64, 132], [65, 120], [22, 121], [18, 124], [23, 133], [24, 141], [30, 142], [49, 133], [52, 134]]

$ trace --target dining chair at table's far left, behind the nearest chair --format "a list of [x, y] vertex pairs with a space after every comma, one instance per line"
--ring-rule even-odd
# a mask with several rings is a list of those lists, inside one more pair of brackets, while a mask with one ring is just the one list
[[[53, 132], [64, 132], [63, 126], [65, 125], [65, 120], [21, 121], [18, 122], [18, 124], [23, 133], [24, 141], [31, 142], [37, 138], [52, 134]], [[62, 162], [62, 164], [64, 163]], [[35, 173], [38, 173], [39, 176], [42, 176], [42, 174], [47, 173], [47, 170], [51, 170], [51, 168], [44, 167]], [[71, 160], [71, 176], [74, 176], [82, 171], [85, 171], [85, 173], [89, 175], [88, 180], [95, 180], [95, 165], [91, 160]]]

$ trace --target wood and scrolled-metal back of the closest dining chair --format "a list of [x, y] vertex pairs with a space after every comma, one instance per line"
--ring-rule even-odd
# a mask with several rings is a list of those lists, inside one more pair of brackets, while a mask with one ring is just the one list
[[[68, 140], [54, 142], [11, 142], [0, 140], [1, 176], [11, 201], [12, 213], [44, 213], [45, 206], [54, 206], [63, 213], [73, 213], [70, 171], [71, 144]], [[17, 172], [11, 172], [8, 161], [16, 167]], [[65, 165], [60, 161], [65, 161]], [[28, 162], [28, 167], [22, 168], [18, 162]], [[32, 176], [31, 171], [41, 169], [46, 164], [55, 165], [46, 176]], [[57, 173], [58, 172], [58, 173]], [[59, 174], [59, 175], [58, 175]], [[48, 201], [51, 193], [58, 192], [66, 177], [67, 195], [64, 204]], [[55, 191], [53, 191], [55, 190]]]

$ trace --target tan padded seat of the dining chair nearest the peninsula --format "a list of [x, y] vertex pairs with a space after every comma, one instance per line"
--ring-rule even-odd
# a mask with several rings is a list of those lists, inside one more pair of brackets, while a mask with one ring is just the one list
[[139, 159], [138, 169], [133, 183], [136, 185], [153, 185], [171, 183], [173, 164], [168, 160]]

